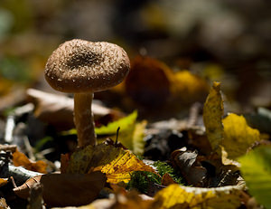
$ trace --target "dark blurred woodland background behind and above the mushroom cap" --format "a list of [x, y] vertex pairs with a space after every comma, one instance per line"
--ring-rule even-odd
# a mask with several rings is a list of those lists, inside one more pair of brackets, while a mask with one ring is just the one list
[[[46, 89], [41, 77], [51, 52], [66, 40], [81, 38], [117, 43], [131, 60], [148, 55], [168, 64], [171, 71], [188, 70], [222, 81], [232, 109], [239, 110], [235, 102], [244, 110], [268, 108], [269, 7], [269, 2], [252, 0], [2, 0], [0, 80]], [[12, 87], [3, 81], [0, 95], [2, 89], [8, 92]], [[167, 97], [168, 82], [164, 89]], [[159, 104], [158, 99], [154, 103]]]

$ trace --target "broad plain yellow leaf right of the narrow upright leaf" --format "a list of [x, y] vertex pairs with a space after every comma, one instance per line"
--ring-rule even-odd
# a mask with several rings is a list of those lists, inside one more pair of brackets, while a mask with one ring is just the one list
[[257, 129], [250, 128], [243, 116], [229, 114], [223, 119], [224, 139], [221, 145], [225, 148], [229, 158], [237, 158], [247, 152], [248, 147], [260, 140]]

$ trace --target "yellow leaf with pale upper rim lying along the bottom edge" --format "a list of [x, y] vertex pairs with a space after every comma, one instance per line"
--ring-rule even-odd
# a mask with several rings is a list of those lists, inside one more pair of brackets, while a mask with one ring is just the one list
[[[238, 208], [240, 204], [239, 186], [217, 188], [169, 185], [154, 196], [155, 208]], [[159, 205], [160, 204], [160, 205]]]

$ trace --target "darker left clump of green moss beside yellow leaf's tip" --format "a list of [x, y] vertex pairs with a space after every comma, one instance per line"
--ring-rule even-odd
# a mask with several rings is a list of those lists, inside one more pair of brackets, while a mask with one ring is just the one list
[[152, 184], [161, 184], [161, 177], [147, 171], [135, 171], [131, 174], [131, 180], [126, 188], [136, 189], [140, 193], [146, 193]]

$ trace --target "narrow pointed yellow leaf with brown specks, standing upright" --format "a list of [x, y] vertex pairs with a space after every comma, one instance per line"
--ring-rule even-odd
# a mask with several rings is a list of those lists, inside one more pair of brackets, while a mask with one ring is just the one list
[[213, 82], [213, 86], [204, 104], [203, 122], [210, 145], [214, 151], [219, 148], [220, 142], [223, 139], [223, 110], [220, 82]]

